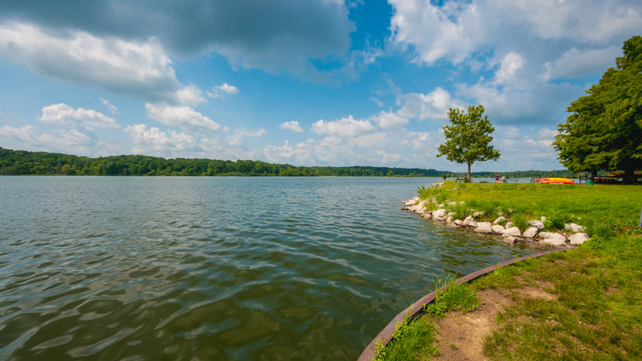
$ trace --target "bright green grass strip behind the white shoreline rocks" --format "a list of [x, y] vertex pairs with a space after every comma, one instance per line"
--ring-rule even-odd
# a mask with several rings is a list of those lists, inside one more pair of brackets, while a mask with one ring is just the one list
[[[528, 221], [545, 216], [547, 230], [564, 229], [574, 222], [590, 230], [608, 223], [615, 233], [635, 228], [640, 216], [642, 187], [635, 185], [559, 185], [533, 183], [454, 183], [439, 188], [419, 188], [422, 199], [434, 197], [457, 218], [481, 211], [478, 221], [493, 221], [503, 215], [522, 228]], [[457, 202], [449, 205], [448, 200]], [[459, 204], [464, 202], [465, 206]], [[466, 209], [462, 209], [462, 208]], [[516, 218], [516, 219], [515, 219]], [[520, 220], [520, 225], [516, 224]]]

